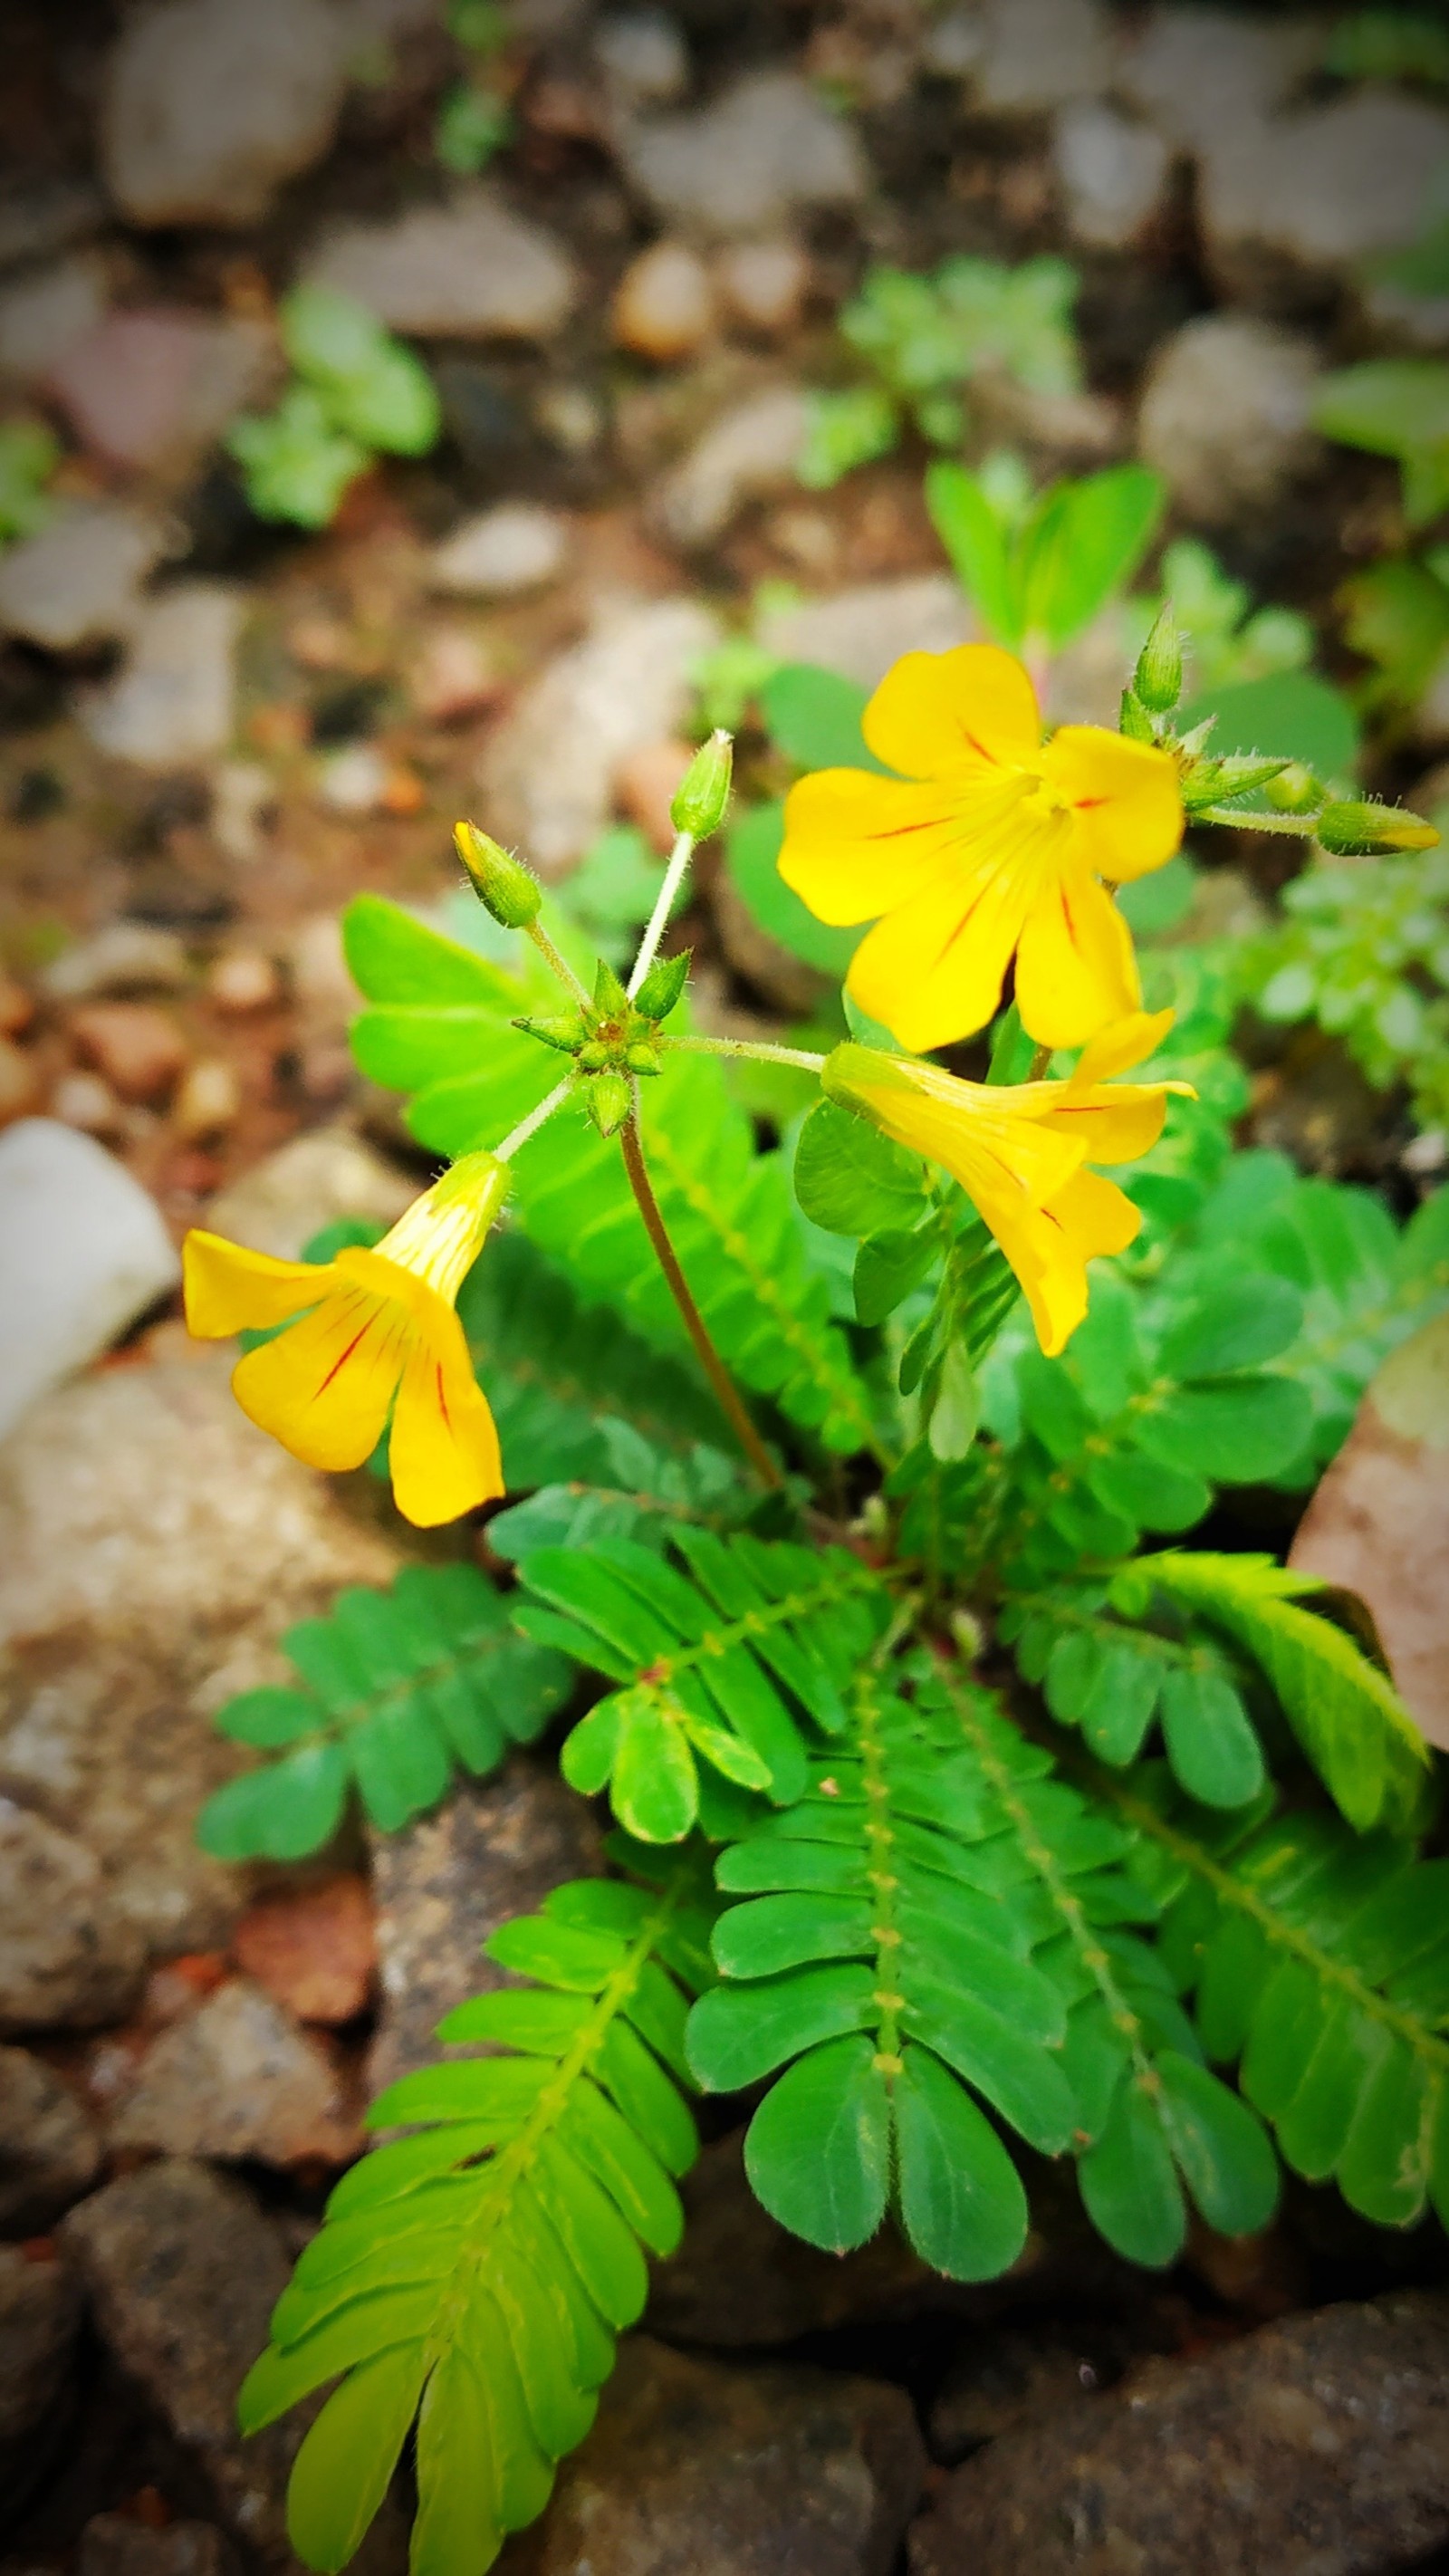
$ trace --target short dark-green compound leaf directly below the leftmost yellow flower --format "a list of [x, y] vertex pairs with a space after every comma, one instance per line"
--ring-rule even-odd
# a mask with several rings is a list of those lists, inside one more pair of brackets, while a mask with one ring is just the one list
[[353, 1790], [396, 1832], [456, 1770], [484, 1777], [530, 1744], [571, 1680], [564, 1656], [510, 1628], [476, 1566], [404, 1566], [386, 1592], [340, 1592], [281, 1646], [296, 1685], [245, 1690], [214, 1721], [237, 1744], [286, 1747], [206, 1801], [196, 1832], [219, 1860], [317, 1852]]

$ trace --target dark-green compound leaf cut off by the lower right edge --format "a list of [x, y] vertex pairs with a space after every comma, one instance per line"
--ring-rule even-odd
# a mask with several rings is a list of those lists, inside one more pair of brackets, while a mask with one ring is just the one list
[[1217, 2063], [1313, 2182], [1377, 2226], [1449, 2218], [1449, 1860], [1336, 1816], [1220, 1819], [1104, 1783]]

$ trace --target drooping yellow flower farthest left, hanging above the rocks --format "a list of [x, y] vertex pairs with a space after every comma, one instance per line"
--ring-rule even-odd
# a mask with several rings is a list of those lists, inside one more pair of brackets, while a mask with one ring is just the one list
[[278, 1262], [219, 1234], [183, 1244], [201, 1340], [286, 1324], [232, 1373], [245, 1414], [306, 1466], [373, 1455], [391, 1412], [391, 1486], [430, 1530], [504, 1492], [499, 1435], [453, 1301], [507, 1195], [507, 1164], [466, 1154], [383, 1234], [329, 1262]]

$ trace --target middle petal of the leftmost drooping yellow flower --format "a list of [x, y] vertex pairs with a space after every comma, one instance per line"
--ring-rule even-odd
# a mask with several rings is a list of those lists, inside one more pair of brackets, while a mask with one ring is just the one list
[[329, 1471], [373, 1455], [414, 1340], [407, 1306], [342, 1283], [232, 1373], [245, 1414], [293, 1458]]

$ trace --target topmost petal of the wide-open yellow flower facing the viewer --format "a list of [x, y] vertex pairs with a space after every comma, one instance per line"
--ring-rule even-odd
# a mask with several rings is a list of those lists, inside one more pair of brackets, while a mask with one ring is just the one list
[[1037, 768], [1042, 719], [1022, 665], [999, 644], [909, 652], [883, 677], [860, 729], [903, 778], [965, 768]]

